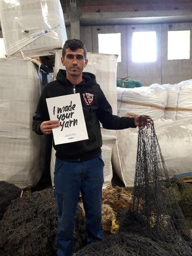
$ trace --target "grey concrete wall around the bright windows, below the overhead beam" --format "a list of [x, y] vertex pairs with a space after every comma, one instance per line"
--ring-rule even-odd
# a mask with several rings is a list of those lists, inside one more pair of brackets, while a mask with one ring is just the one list
[[[190, 30], [192, 35], [192, 23], [174, 23], [171, 28], [172, 30]], [[87, 51], [98, 52], [98, 34], [121, 33], [122, 61], [117, 64], [117, 77], [136, 79], [145, 86], [153, 83], [175, 84], [192, 78], [192, 58], [189, 60], [167, 60], [167, 31], [169, 30], [170, 23], [134, 26], [83, 26], [81, 27], [81, 39], [87, 46]], [[131, 40], [133, 31], [156, 31], [156, 62], [132, 62]], [[191, 51], [192, 47], [190, 55], [192, 55]]]

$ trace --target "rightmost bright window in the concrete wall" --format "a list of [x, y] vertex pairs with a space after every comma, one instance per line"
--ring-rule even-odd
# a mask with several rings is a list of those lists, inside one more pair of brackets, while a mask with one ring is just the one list
[[190, 30], [168, 31], [167, 59], [190, 59]]

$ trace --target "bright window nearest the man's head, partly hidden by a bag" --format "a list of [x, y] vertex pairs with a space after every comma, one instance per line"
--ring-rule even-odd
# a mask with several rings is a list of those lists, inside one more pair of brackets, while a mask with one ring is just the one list
[[121, 33], [98, 34], [99, 53], [118, 54], [121, 62]]

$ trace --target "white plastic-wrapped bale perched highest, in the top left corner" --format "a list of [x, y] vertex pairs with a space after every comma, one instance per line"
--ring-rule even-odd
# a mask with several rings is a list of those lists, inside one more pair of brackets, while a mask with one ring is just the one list
[[50, 55], [67, 39], [59, 0], [2, 0], [0, 18], [7, 57]]

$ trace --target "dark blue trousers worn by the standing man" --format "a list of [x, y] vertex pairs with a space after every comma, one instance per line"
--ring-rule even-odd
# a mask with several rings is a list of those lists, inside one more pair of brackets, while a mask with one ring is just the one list
[[85, 210], [87, 244], [103, 239], [102, 185], [103, 166], [101, 155], [83, 162], [55, 159], [54, 196], [58, 208], [57, 255], [73, 254], [74, 217], [79, 191]]

